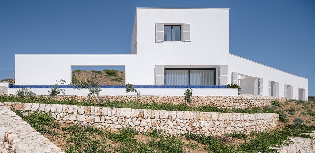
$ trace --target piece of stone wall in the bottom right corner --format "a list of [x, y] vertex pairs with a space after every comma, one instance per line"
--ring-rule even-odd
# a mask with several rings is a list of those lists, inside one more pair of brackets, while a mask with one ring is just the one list
[[[315, 138], [315, 131], [307, 134]], [[291, 137], [290, 140], [293, 142], [290, 145], [284, 145], [280, 148], [270, 148], [275, 149], [279, 153], [315, 153], [315, 140], [301, 137]]]

